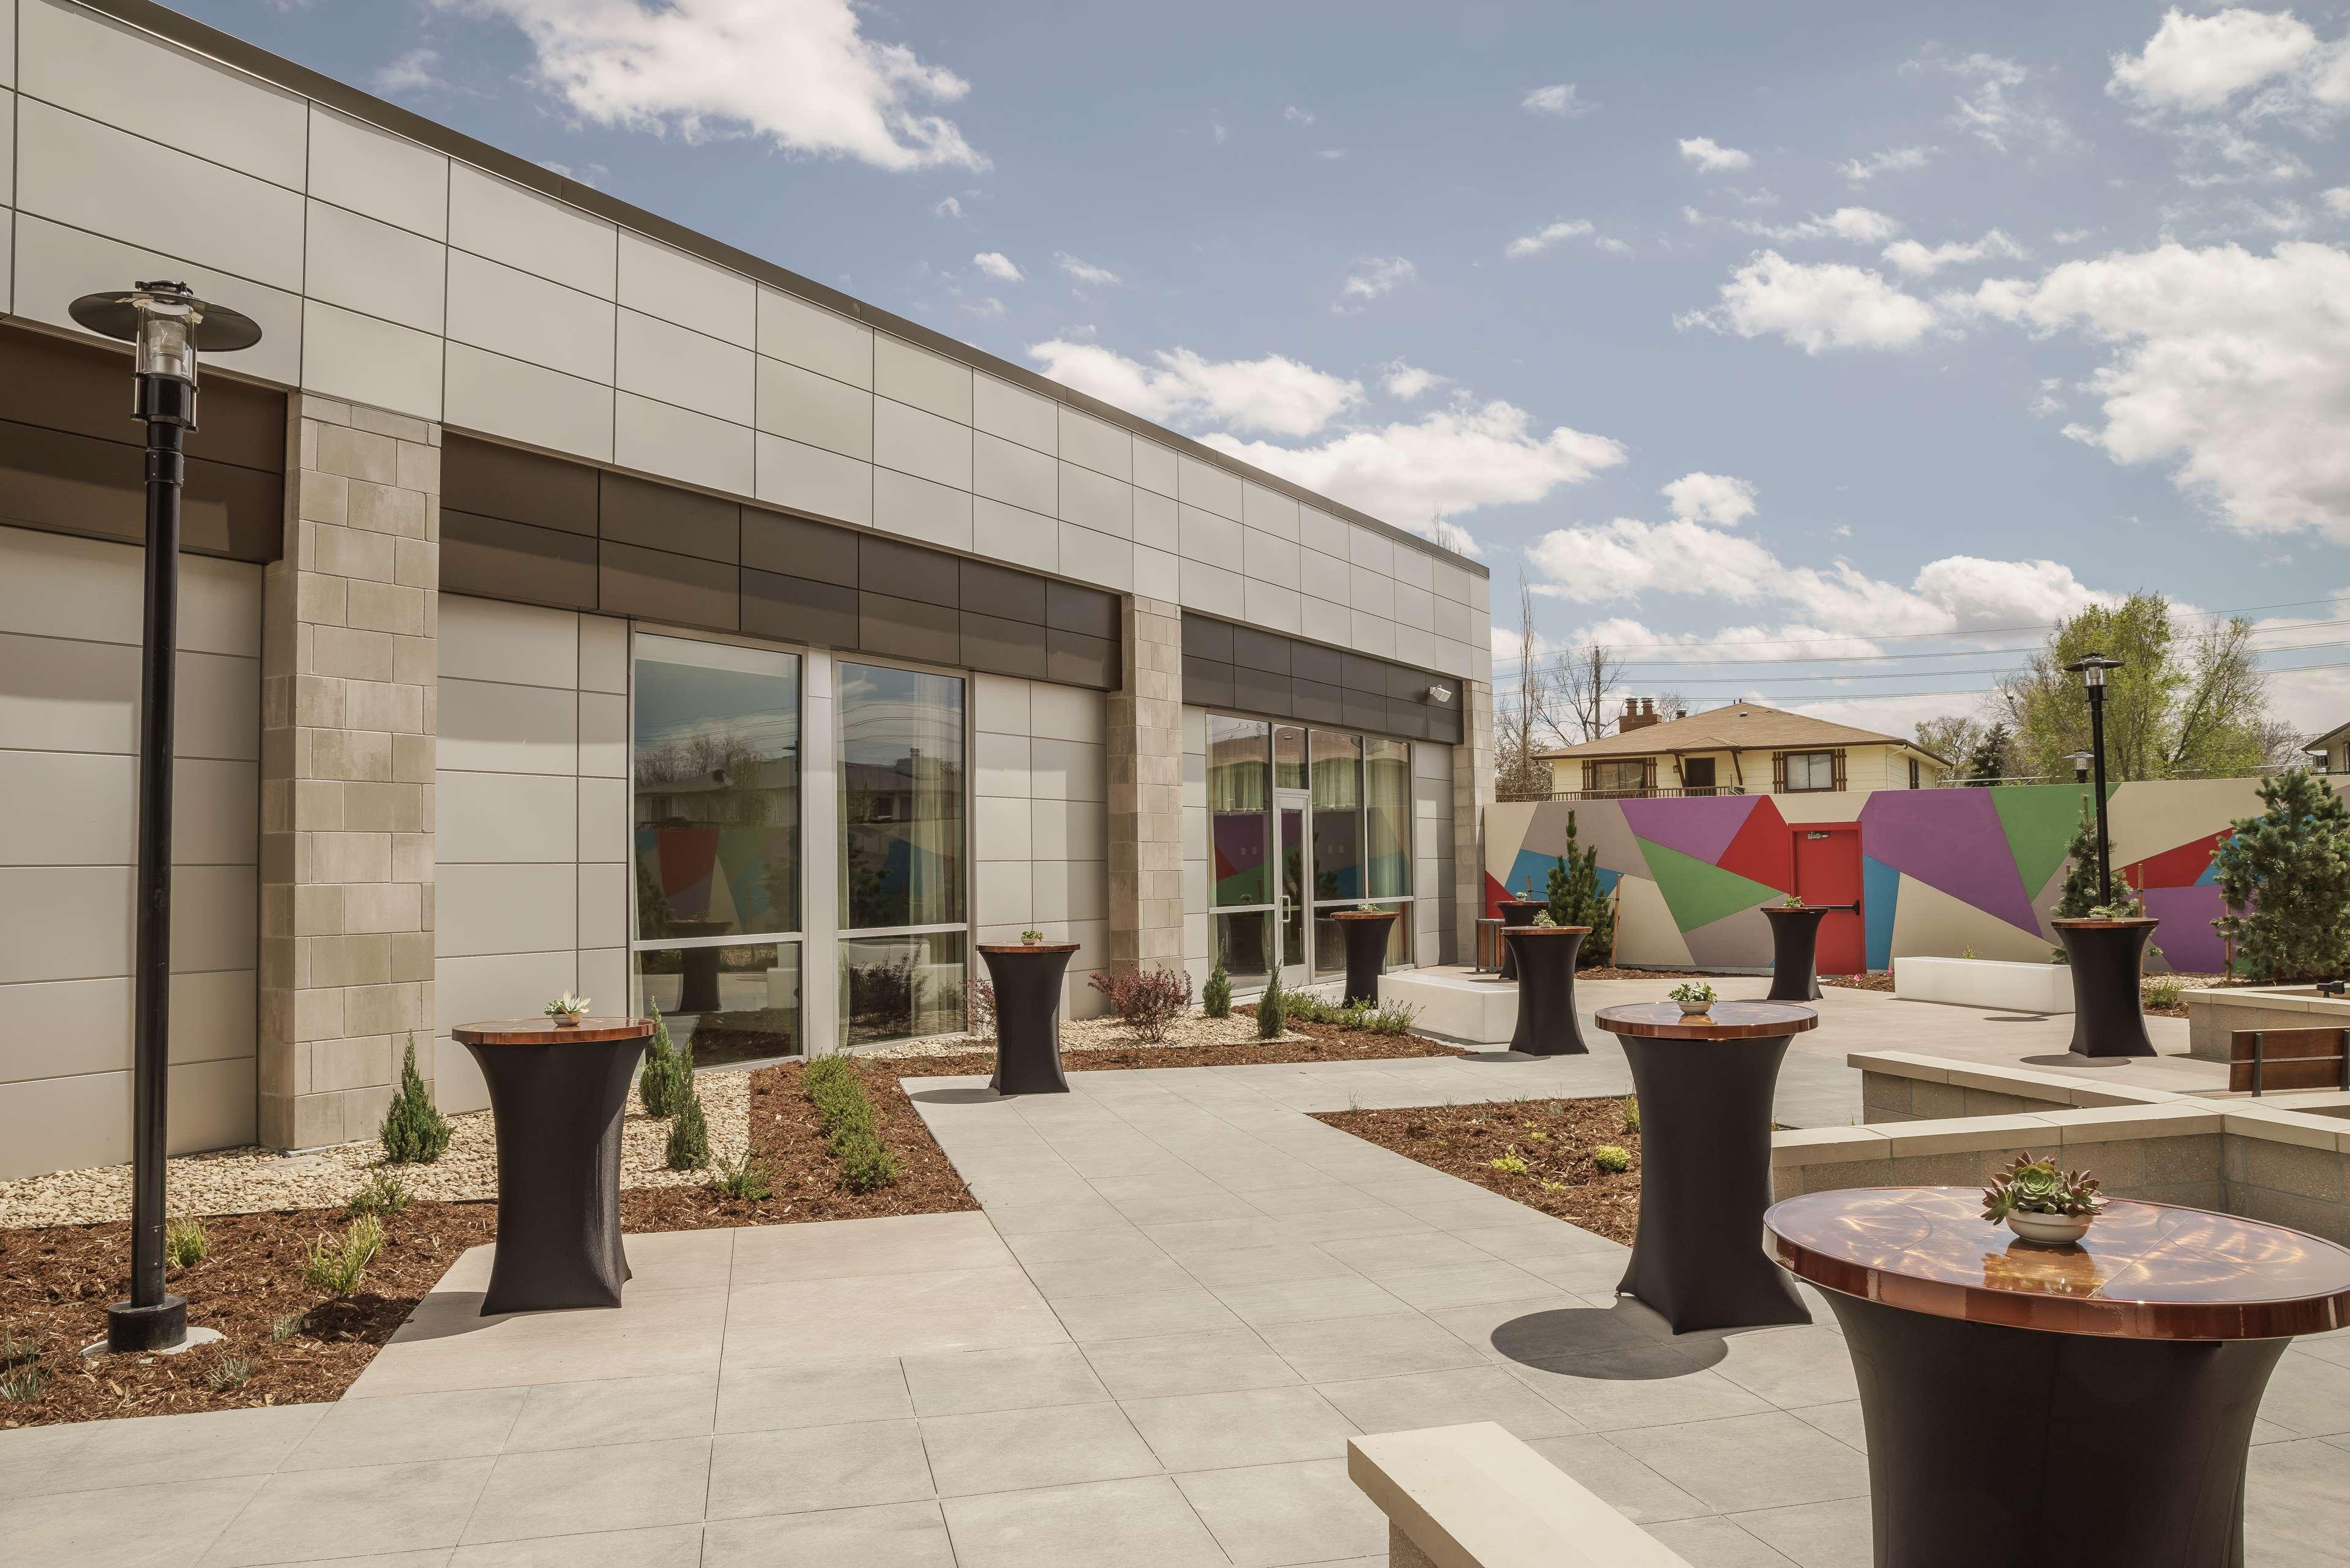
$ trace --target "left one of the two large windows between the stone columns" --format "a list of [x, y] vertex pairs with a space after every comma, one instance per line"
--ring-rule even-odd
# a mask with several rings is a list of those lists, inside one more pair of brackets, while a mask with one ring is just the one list
[[799, 1041], [799, 658], [634, 639], [637, 987], [698, 1063]]

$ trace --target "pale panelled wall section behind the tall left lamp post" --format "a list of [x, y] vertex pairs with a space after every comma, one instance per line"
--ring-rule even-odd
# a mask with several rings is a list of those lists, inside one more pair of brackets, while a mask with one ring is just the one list
[[[129, 1159], [143, 552], [0, 529], [0, 1180]], [[261, 569], [181, 557], [172, 1150], [254, 1138]]]

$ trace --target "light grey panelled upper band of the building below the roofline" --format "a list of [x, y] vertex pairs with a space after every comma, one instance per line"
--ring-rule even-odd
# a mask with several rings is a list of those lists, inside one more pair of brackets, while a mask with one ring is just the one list
[[1488, 576], [1455, 555], [392, 134], [369, 118], [414, 118], [364, 94], [329, 108], [68, 0], [9, 12], [0, 313], [78, 331], [94, 277], [160, 268], [261, 322], [223, 369], [1490, 679]]

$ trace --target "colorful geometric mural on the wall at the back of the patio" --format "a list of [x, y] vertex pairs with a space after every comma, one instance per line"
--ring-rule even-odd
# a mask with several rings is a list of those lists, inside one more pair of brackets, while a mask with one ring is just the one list
[[[1617, 891], [1619, 964], [1767, 969], [1770, 924], [1760, 910], [1798, 891], [1795, 837], [1824, 823], [1859, 823], [1859, 919], [1871, 969], [1969, 950], [2037, 964], [2056, 945], [2047, 922], [2082, 799], [2080, 785], [2000, 785], [1509, 802], [1485, 809], [1485, 896], [1490, 905], [1504, 889], [1516, 896], [1530, 886], [1539, 898], [1565, 851], [1572, 811], [1577, 844], [1598, 849], [1600, 886]], [[2211, 849], [2228, 837], [2228, 823], [2258, 809], [2251, 778], [2108, 790], [2115, 879], [2162, 922], [2148, 969], [2221, 966]]]

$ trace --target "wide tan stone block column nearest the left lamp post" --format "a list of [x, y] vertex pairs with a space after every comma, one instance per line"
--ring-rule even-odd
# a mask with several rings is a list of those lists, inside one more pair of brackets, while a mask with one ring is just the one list
[[261, 1143], [369, 1138], [432, 1074], [439, 425], [287, 407], [261, 592]]

